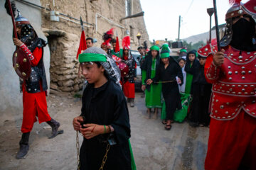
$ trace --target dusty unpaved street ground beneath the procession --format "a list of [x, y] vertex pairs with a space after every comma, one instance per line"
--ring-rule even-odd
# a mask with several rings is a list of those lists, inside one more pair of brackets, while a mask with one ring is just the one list
[[[138, 170], [203, 169], [208, 128], [191, 128], [188, 123], [174, 123], [164, 130], [160, 118], [146, 119], [144, 98], [136, 94], [135, 107], [129, 107], [131, 143]], [[63, 135], [49, 140], [50, 126], [34, 124], [26, 159], [16, 159], [21, 138], [21, 116], [0, 122], [0, 169], [76, 169], [76, 132], [72, 120], [80, 114], [81, 101], [68, 94], [48, 97], [48, 111], [60, 121]], [[82, 137], [79, 135], [80, 143]]]

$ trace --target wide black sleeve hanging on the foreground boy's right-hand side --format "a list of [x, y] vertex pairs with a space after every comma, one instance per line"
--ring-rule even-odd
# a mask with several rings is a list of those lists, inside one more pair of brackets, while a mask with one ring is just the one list
[[117, 96], [116, 106], [114, 109], [114, 121], [111, 123], [111, 126], [114, 128], [114, 134], [119, 145], [127, 142], [129, 137], [131, 137], [129, 112], [123, 94]]

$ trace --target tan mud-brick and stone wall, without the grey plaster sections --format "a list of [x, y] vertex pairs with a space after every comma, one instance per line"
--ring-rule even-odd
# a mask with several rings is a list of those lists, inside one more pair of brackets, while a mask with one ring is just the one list
[[[139, 0], [129, 1], [133, 6], [132, 14], [142, 11]], [[137, 33], [142, 35], [140, 42], [146, 40], [149, 45], [149, 35], [146, 32], [142, 16], [119, 21], [126, 16], [125, 0], [63, 0], [55, 1], [54, 6], [51, 0], [41, 0], [41, 4], [73, 18], [81, 16], [83, 21], [92, 24], [92, 26], [84, 24], [85, 35], [96, 38], [95, 46], [97, 47], [100, 47], [103, 42], [103, 33], [110, 28], [115, 28], [114, 35], [118, 34], [120, 47], [122, 47], [122, 38], [127, 35], [127, 30], [131, 37], [132, 50], [137, 50], [139, 46]], [[70, 19], [65, 16], [60, 17]], [[80, 24], [79, 21], [72, 18], [71, 21], [63, 18], [60, 18], [58, 22], [50, 21], [49, 11], [42, 11], [42, 28], [50, 47], [50, 91], [52, 93], [78, 91], [82, 88], [84, 81], [84, 79], [78, 78], [78, 61], [75, 58], [80, 42]]]

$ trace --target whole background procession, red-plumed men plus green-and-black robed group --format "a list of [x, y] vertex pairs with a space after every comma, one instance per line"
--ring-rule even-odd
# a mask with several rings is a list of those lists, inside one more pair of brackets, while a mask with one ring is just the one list
[[[134, 107], [137, 79], [137, 62], [142, 71], [142, 97], [145, 97], [146, 118], [156, 119], [161, 114], [165, 130], [171, 130], [171, 123], [188, 120], [193, 127], [210, 123], [208, 105], [211, 84], [204, 77], [206, 57], [196, 50], [187, 52], [181, 48], [178, 59], [171, 56], [171, 48], [164, 44], [152, 45], [150, 49], [139, 46], [140, 56], [132, 56], [129, 36], [122, 40], [122, 49], [117, 49], [117, 40], [112, 38], [112, 29], [103, 35], [101, 48], [116, 62], [121, 71], [120, 84], [129, 106]], [[93, 39], [87, 38], [92, 47]], [[127, 67], [127, 69], [125, 69]]]

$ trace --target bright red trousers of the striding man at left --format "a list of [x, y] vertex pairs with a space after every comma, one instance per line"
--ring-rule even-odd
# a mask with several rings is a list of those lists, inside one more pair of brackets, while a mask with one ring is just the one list
[[36, 94], [29, 94], [23, 88], [23, 120], [21, 132], [31, 132], [36, 116], [39, 123], [50, 121], [50, 115], [47, 111], [46, 93], [41, 91]]

